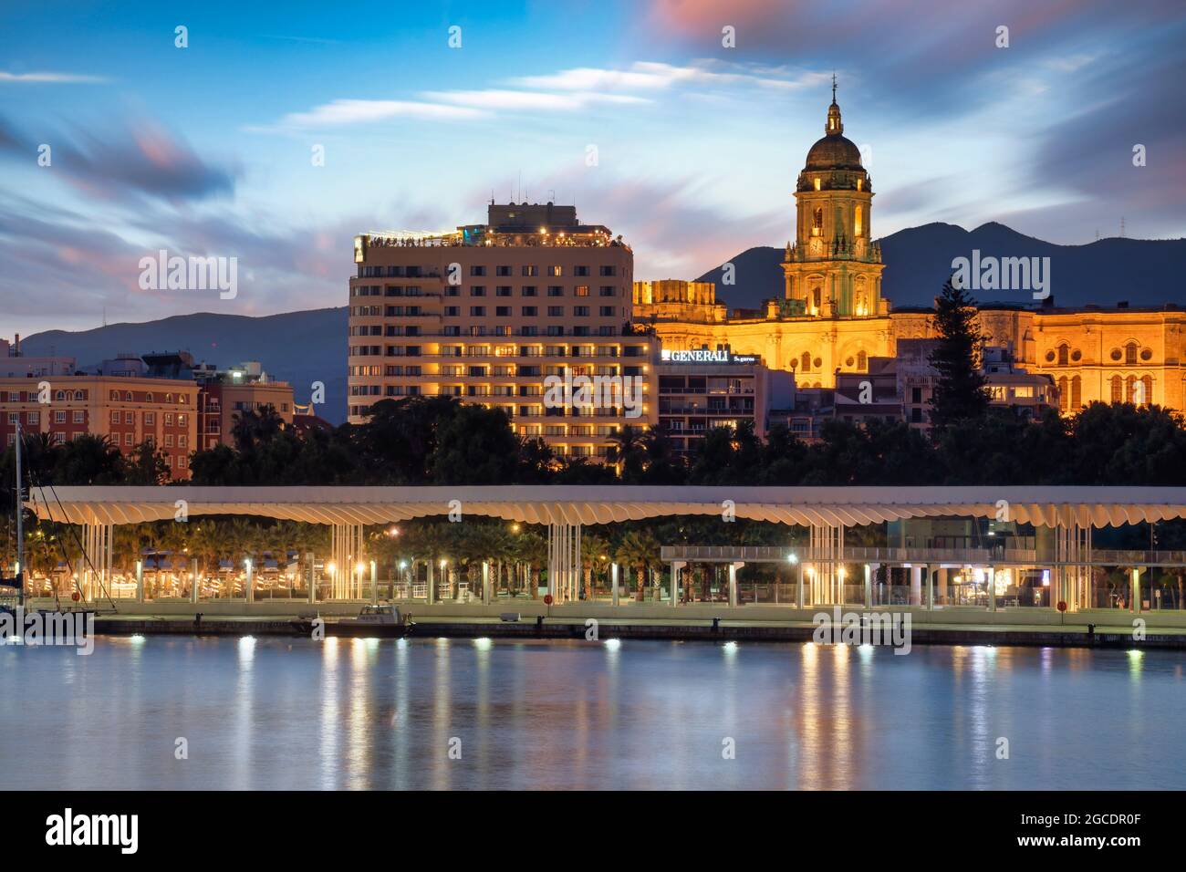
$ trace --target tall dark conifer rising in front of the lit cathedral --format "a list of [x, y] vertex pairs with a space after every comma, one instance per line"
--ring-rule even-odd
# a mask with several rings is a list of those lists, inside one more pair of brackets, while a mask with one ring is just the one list
[[984, 337], [980, 332], [976, 301], [951, 279], [935, 299], [938, 344], [931, 365], [938, 373], [931, 392], [931, 424], [943, 429], [955, 421], [983, 418], [988, 412], [988, 388], [980, 370]]

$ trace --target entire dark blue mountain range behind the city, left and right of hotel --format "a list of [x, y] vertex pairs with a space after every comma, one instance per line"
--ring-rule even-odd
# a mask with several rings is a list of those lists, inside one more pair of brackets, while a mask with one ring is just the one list
[[[1085, 246], [1057, 246], [988, 223], [975, 230], [925, 224], [881, 240], [882, 294], [897, 307], [931, 306], [956, 257], [1050, 257], [1052, 303], [1059, 306], [1128, 301], [1131, 306], [1182, 303], [1186, 240], [1103, 238]], [[723, 265], [697, 281], [718, 282], [716, 299], [731, 308], [758, 308], [783, 293], [783, 249], [750, 248], [733, 263], [735, 284], [722, 285]], [[974, 292], [980, 303], [1033, 305], [1029, 292]], [[343, 288], [345, 297], [345, 288]], [[228, 367], [260, 361], [266, 371], [293, 384], [298, 402], [310, 386], [325, 383], [317, 413], [333, 424], [346, 414], [346, 307], [248, 317], [198, 312], [142, 324], [111, 324], [78, 332], [50, 330], [26, 337], [27, 355], [70, 355], [94, 367], [120, 352], [190, 351], [195, 359]]]

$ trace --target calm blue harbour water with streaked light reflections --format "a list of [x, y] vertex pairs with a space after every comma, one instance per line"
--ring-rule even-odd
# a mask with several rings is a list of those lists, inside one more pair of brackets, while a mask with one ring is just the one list
[[642, 641], [6, 647], [0, 788], [1180, 789], [1184, 660]]

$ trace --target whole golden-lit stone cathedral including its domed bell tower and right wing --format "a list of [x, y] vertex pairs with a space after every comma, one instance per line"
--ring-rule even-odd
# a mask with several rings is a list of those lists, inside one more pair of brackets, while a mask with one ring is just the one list
[[[872, 235], [873, 182], [844, 136], [835, 84], [824, 135], [808, 151], [795, 190], [795, 235], [782, 269], [782, 299], [763, 312], [727, 311], [712, 284], [635, 284], [633, 319], [664, 349], [731, 349], [795, 373], [801, 388], [833, 388], [892, 357], [898, 339], [935, 335], [925, 308], [893, 308], [881, 294], [881, 249]], [[1099, 400], [1186, 410], [1186, 312], [1173, 306], [1027, 308], [983, 306], [988, 344], [1048, 374], [1066, 414]]]

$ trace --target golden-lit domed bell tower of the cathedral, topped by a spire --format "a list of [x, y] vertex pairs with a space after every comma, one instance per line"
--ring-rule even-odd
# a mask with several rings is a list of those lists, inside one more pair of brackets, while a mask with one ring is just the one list
[[783, 259], [783, 314], [862, 318], [886, 314], [881, 247], [869, 234], [873, 185], [861, 149], [844, 136], [831, 78], [824, 136], [808, 152], [795, 191], [795, 242]]

